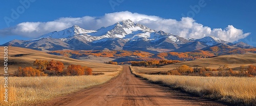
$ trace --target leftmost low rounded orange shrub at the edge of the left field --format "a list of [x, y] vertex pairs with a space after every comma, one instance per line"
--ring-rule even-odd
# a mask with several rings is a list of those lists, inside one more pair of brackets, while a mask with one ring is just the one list
[[14, 76], [47, 76], [44, 72], [34, 69], [32, 67], [19, 67], [17, 71], [14, 72]]

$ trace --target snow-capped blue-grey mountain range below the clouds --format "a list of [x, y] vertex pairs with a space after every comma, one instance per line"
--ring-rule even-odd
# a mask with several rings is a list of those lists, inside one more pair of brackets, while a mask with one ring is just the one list
[[183, 38], [177, 35], [155, 31], [147, 26], [127, 19], [96, 31], [84, 30], [77, 25], [62, 31], [55, 31], [32, 40], [13, 40], [4, 45], [26, 47], [38, 50], [59, 49], [110, 49], [144, 50], [148, 52], [193, 51], [219, 43], [234, 47], [247, 47], [244, 43], [232, 44], [216, 37], [201, 39]]

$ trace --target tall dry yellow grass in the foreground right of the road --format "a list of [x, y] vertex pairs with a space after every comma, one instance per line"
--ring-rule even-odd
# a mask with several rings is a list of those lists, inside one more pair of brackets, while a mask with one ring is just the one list
[[148, 75], [136, 73], [133, 67], [132, 71], [152, 82], [180, 88], [202, 97], [231, 104], [256, 105], [256, 77]]

